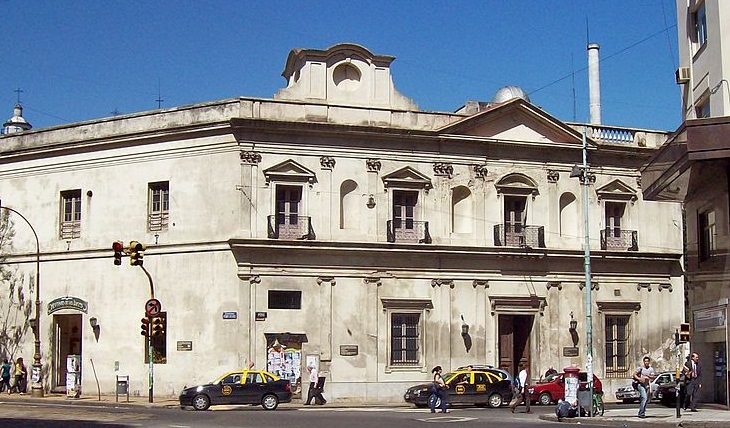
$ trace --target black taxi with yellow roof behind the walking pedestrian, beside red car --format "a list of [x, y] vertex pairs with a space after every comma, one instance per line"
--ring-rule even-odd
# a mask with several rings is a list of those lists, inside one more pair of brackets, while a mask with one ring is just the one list
[[[507, 372], [495, 368], [463, 369], [442, 375], [449, 386], [446, 400], [449, 405], [471, 405], [479, 407], [500, 407], [512, 399], [512, 381]], [[403, 395], [407, 403], [416, 407], [427, 407], [433, 392], [433, 382], [408, 388]], [[436, 399], [436, 407], [440, 399]]]

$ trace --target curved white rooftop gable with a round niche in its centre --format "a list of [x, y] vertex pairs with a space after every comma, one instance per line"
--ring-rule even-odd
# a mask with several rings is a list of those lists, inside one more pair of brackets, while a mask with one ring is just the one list
[[274, 98], [416, 110], [418, 106], [393, 85], [390, 63], [394, 59], [351, 43], [326, 50], [293, 49], [281, 73], [287, 87]]

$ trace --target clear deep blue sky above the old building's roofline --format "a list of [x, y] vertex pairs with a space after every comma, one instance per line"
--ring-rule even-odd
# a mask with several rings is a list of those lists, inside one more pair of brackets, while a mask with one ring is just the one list
[[[517, 85], [587, 122], [588, 37], [603, 123], [681, 123], [675, 0], [0, 0], [0, 120], [34, 128], [238, 96], [272, 97], [293, 48], [392, 55], [396, 88], [454, 111]], [[575, 93], [575, 96], [574, 96]]]

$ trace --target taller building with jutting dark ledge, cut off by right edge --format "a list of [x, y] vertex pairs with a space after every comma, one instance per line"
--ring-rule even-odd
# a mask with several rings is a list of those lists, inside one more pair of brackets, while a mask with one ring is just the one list
[[678, 0], [684, 122], [642, 172], [644, 197], [684, 203], [687, 314], [701, 400], [728, 405], [730, 4]]

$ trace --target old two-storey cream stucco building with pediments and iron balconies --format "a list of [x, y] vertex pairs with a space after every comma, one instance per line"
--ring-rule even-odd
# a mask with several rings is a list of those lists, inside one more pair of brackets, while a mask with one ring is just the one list
[[[419, 110], [395, 89], [393, 59], [352, 44], [294, 50], [272, 99], [0, 136], [2, 204], [40, 239], [46, 390], [65, 388], [78, 354], [84, 391], [95, 375], [107, 393], [130, 375], [132, 393], [147, 392], [150, 281], [112, 263], [115, 240], [147, 245], [166, 321], [156, 395], [248, 362], [295, 381], [315, 361], [328, 399], [351, 401], [399, 400], [437, 364], [526, 361], [534, 378], [584, 367], [582, 188], [594, 371], [612, 392], [643, 355], [668, 368], [684, 317], [682, 215], [645, 201], [639, 174], [666, 134], [587, 126], [582, 186], [570, 173], [583, 125], [514, 87]], [[4, 281], [0, 302], [24, 334], [2, 352], [28, 360], [35, 242], [9, 218], [3, 266], [26, 274], [25, 300]]]

